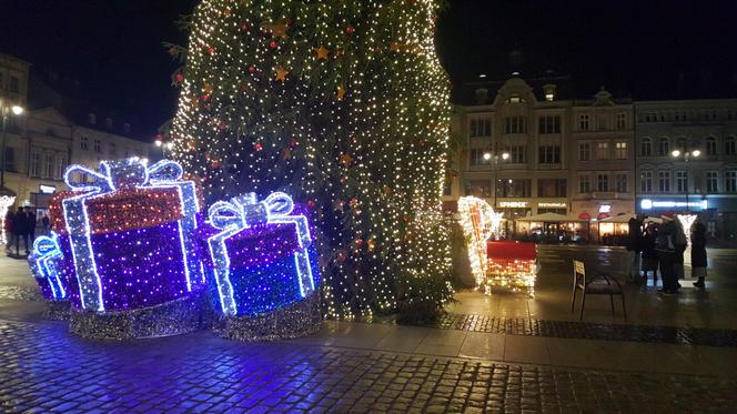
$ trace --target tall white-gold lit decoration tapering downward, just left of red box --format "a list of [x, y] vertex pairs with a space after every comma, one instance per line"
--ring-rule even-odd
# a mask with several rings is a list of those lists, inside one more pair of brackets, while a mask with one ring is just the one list
[[502, 214], [495, 213], [486, 201], [475, 196], [458, 199], [458, 214], [468, 249], [471, 272], [476, 285], [481, 287], [486, 281], [486, 240], [498, 231]]

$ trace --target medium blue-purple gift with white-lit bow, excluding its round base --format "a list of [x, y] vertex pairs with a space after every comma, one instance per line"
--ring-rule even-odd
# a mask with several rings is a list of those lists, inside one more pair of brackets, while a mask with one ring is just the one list
[[228, 316], [255, 316], [315, 293], [317, 262], [307, 219], [281, 192], [219, 201], [209, 212], [208, 238], [219, 309]]

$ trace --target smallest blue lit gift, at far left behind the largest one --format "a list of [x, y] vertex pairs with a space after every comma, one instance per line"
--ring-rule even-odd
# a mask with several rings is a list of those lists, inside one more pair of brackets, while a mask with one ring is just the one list
[[68, 299], [67, 289], [59, 269], [63, 255], [59, 248], [57, 233], [51, 236], [41, 235], [33, 241], [33, 252], [28, 256], [31, 274], [41, 287], [41, 295], [47, 300], [62, 301]]

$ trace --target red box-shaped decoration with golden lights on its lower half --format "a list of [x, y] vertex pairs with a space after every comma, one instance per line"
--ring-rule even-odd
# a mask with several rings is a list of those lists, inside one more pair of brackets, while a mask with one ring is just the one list
[[535, 243], [489, 241], [486, 243], [485, 290], [507, 287], [535, 295], [537, 250]]

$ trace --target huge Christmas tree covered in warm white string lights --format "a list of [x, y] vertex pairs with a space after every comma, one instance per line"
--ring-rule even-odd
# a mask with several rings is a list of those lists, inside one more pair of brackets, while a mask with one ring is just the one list
[[210, 201], [283, 191], [309, 206], [327, 316], [450, 297], [436, 11], [433, 0], [204, 0], [192, 16], [173, 154]]

